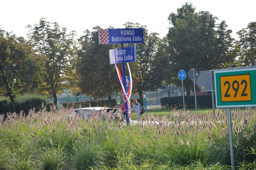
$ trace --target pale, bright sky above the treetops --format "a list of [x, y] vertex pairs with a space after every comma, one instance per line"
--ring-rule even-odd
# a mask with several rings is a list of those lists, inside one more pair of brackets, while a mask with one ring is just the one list
[[131, 22], [147, 26], [148, 33], [156, 32], [163, 38], [172, 26], [169, 14], [176, 14], [186, 2], [191, 3], [196, 12], [209, 11], [218, 18], [216, 23], [225, 20], [236, 40], [236, 32], [256, 22], [256, 0], [0, 0], [0, 29], [27, 39], [26, 26], [39, 24], [40, 19], [45, 18], [68, 31], [75, 30], [80, 37], [94, 26], [124, 28], [124, 23]]

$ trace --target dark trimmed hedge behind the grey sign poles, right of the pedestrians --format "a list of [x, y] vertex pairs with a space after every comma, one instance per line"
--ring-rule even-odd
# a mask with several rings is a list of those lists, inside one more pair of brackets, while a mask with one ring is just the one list
[[[215, 97], [214, 97], [215, 100]], [[183, 108], [183, 97], [164, 97], [160, 99], [162, 108]], [[185, 108], [195, 108], [195, 97], [194, 96], [184, 96]], [[212, 95], [199, 95], [197, 96], [197, 108], [212, 108]]]

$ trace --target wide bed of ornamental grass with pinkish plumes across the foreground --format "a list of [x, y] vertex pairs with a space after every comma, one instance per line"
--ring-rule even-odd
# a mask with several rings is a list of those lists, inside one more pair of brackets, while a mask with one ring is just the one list
[[[42, 104], [42, 108], [44, 108]], [[256, 168], [255, 108], [232, 111], [236, 169]], [[197, 115], [173, 109], [137, 123], [74, 109], [0, 116], [0, 169], [230, 169], [224, 109]], [[105, 117], [102, 118], [102, 114]]]

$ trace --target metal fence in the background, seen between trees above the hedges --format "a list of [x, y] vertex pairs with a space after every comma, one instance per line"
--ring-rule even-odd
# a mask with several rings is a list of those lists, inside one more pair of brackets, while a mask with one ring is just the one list
[[[147, 105], [157, 105], [160, 107], [160, 99], [163, 97], [172, 97], [172, 96], [182, 96], [182, 89], [177, 88], [174, 86], [166, 86], [165, 89], [159, 89], [156, 92], [145, 92], [146, 96], [146, 104]], [[191, 94], [191, 92], [190, 92]], [[184, 95], [186, 95], [186, 92], [184, 91]], [[119, 107], [120, 103], [122, 103], [123, 97], [120, 94], [120, 96], [112, 95], [112, 99], [117, 100], [117, 107]], [[130, 99], [138, 99], [139, 95], [132, 94]], [[102, 99], [108, 99], [108, 98], [102, 98]], [[95, 100], [92, 97], [88, 97], [86, 95], [81, 96], [72, 96], [72, 94], [69, 93], [69, 90], [65, 90], [65, 92], [62, 95], [57, 96], [58, 105], [59, 107], [62, 106], [62, 103], [73, 103], [73, 102], [81, 102], [81, 101], [88, 101], [88, 100]], [[50, 102], [53, 102], [53, 99], [50, 100]]]

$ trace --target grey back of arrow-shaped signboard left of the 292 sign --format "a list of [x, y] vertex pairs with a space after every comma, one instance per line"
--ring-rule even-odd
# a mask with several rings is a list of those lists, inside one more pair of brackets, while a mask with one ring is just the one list
[[[195, 83], [201, 92], [208, 92], [213, 90], [211, 83], [214, 82], [214, 80], [211, 74], [212, 74], [212, 71], [210, 70], [199, 72]], [[212, 80], [211, 80], [211, 77], [212, 77]]]

